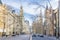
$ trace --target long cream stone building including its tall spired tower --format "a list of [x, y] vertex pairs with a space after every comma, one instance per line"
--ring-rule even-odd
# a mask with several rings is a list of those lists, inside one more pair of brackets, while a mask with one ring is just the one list
[[[23, 8], [22, 6], [20, 7], [20, 15], [15, 14], [14, 12], [9, 12], [8, 13], [9, 17], [7, 19], [8, 21], [8, 25], [7, 29], [10, 30], [7, 33], [7, 35], [16, 35], [16, 34], [23, 34], [23, 33], [27, 33], [27, 29], [25, 30], [25, 28], [28, 28], [28, 25], [25, 23], [24, 21], [24, 15], [23, 15]], [[9, 23], [12, 22], [11, 24]], [[9, 29], [10, 28], [10, 29]]]

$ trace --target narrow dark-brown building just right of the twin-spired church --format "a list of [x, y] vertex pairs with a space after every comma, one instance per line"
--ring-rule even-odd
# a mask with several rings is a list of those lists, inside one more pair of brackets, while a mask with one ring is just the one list
[[54, 35], [57, 35], [58, 29], [58, 8], [53, 10]]

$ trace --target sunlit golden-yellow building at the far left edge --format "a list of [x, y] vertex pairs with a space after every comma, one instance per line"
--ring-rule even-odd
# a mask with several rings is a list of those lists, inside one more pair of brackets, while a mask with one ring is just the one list
[[11, 12], [7, 10], [6, 5], [2, 4], [1, 0], [0, 0], [0, 3], [1, 3], [0, 4], [0, 33], [1, 33], [0, 36], [5, 34], [8, 35], [9, 33], [12, 34], [11, 31], [13, 30], [13, 28], [10, 27], [10, 25], [12, 26], [11, 23], [13, 23], [13, 16], [12, 16], [13, 14], [10, 14]]

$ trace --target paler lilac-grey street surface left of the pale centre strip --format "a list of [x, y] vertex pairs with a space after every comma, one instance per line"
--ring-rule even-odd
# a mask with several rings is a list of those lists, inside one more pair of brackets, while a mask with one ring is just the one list
[[29, 40], [29, 35], [4, 36], [0, 40]]

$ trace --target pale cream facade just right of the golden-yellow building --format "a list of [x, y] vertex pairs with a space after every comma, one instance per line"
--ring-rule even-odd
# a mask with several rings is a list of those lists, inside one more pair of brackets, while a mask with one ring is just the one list
[[5, 16], [5, 29], [6, 29], [6, 35], [12, 35], [13, 34], [13, 28], [14, 28], [14, 16], [11, 12], [7, 11], [7, 14]]

